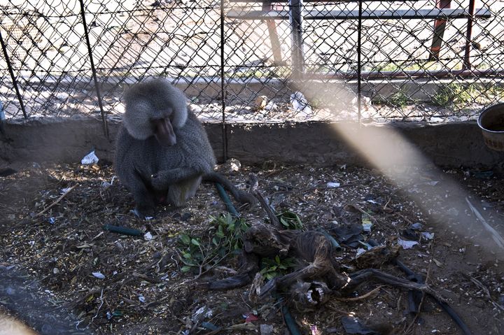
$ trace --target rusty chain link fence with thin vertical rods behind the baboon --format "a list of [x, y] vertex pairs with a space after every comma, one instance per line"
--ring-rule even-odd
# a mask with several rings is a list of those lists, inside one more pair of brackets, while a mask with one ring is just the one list
[[8, 0], [9, 119], [120, 117], [165, 76], [204, 120], [467, 120], [504, 100], [504, 2]]

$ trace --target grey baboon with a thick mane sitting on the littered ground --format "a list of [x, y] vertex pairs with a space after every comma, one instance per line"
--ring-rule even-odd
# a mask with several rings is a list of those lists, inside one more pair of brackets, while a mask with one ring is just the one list
[[124, 100], [115, 166], [139, 213], [151, 215], [162, 201], [183, 206], [202, 180], [223, 183], [241, 203], [255, 202], [251, 194], [213, 172], [214, 150], [183, 92], [158, 78], [133, 85]]

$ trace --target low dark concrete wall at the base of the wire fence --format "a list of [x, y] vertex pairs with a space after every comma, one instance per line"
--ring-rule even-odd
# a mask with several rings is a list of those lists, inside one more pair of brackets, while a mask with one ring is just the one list
[[[330, 122], [286, 122], [270, 124], [228, 124], [228, 157], [244, 164], [265, 160], [292, 164], [358, 164], [365, 161], [334, 130]], [[475, 122], [449, 124], [391, 123], [341, 124], [352, 136], [390, 136], [386, 129], [404, 135], [394, 150], [407, 150], [401, 141], [416, 145], [439, 166], [495, 167], [504, 162], [503, 152], [486, 148]], [[0, 142], [1, 166], [17, 162], [80, 162], [92, 148], [100, 159], [113, 160], [114, 138], [119, 124], [109, 124], [110, 140], [102, 122], [91, 118], [53, 119], [45, 117], [5, 125], [7, 139]], [[205, 124], [218, 159], [223, 159], [223, 127]], [[0, 136], [1, 137], [1, 136]], [[406, 153], [406, 152], [405, 152]]]

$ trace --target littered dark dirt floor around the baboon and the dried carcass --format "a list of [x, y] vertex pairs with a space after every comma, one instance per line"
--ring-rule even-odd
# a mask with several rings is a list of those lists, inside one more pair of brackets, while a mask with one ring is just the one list
[[[50, 334], [50, 318], [68, 327], [52, 334], [289, 334], [281, 304], [273, 298], [253, 304], [248, 300], [250, 285], [223, 291], [202, 288], [200, 283], [237, 270], [237, 257], [228, 255], [212, 268], [183, 267], [187, 245], [181, 236], [209, 243], [216, 234], [211, 217], [226, 212], [214, 185], [202, 185], [185, 208], [159, 206], [155, 218], [143, 220], [131, 212], [132, 196], [113, 178], [108, 162], [15, 169], [17, 173], [0, 177], [0, 304], [41, 334]], [[342, 225], [371, 224], [370, 232], [362, 233], [363, 242], [419, 242], [401, 249], [399, 259], [426, 277], [472, 334], [503, 334], [504, 267], [496, 241], [481, 229], [468, 204], [459, 204], [465, 209], [437, 206], [444, 211], [435, 216], [429, 209], [451, 197], [444, 183], [454, 179], [503, 234], [502, 173], [455, 169], [433, 180], [425, 169], [421, 183], [400, 188], [378, 171], [355, 166], [267, 162], [224, 171], [241, 189], [246, 189], [249, 173], [255, 173], [260, 192], [277, 213], [296, 213], [302, 229], [334, 236], [342, 245], [333, 254], [341, 271], [356, 271], [357, 253], [336, 234]], [[420, 194], [414, 199], [424, 201], [412, 200], [413, 193]], [[258, 206], [238, 210], [245, 222], [267, 218]], [[473, 218], [474, 224], [455, 229], [461, 215]], [[148, 231], [152, 239], [106, 231], [104, 224]], [[378, 267], [405, 278], [393, 264]], [[349, 297], [358, 299], [341, 299]], [[427, 297], [417, 318], [405, 313], [408, 293], [398, 287], [370, 280], [349, 297], [335, 295], [323, 306], [310, 308], [287, 306], [301, 334], [352, 334], [342, 326], [347, 315], [374, 329], [362, 334], [463, 334]], [[43, 313], [40, 304], [48, 306]], [[214, 327], [222, 328], [212, 332]]]

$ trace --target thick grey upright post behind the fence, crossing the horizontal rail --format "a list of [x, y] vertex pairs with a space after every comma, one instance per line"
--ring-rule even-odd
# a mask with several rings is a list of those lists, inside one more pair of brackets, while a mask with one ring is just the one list
[[303, 2], [289, 0], [290, 36], [292, 37], [293, 78], [302, 78], [304, 72], [304, 51], [302, 40]]

